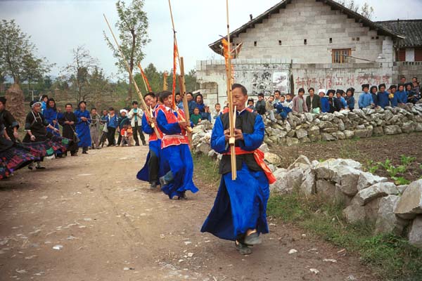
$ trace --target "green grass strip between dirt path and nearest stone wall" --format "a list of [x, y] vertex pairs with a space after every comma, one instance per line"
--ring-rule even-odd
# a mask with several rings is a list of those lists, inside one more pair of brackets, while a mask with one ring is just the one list
[[272, 195], [268, 215], [281, 218], [358, 254], [373, 273], [384, 280], [422, 280], [422, 249], [394, 235], [373, 235], [373, 224], [348, 224], [343, 206], [329, 204], [317, 195], [305, 197], [299, 192]]

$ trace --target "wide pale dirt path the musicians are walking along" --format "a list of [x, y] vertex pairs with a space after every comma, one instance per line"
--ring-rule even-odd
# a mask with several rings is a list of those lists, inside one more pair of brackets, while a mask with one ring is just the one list
[[199, 232], [215, 194], [171, 201], [136, 180], [146, 152], [90, 150], [1, 181], [0, 280], [374, 280], [357, 258], [280, 222], [239, 255]]

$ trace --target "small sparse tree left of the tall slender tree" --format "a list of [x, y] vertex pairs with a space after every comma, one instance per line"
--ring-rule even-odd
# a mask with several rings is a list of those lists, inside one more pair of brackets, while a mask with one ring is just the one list
[[79, 103], [91, 95], [88, 89], [89, 75], [91, 71], [98, 68], [98, 60], [91, 57], [84, 46], [77, 46], [72, 52], [73, 61], [63, 69], [63, 72], [68, 77], [68, 83], [71, 84], [70, 91], [74, 99]]

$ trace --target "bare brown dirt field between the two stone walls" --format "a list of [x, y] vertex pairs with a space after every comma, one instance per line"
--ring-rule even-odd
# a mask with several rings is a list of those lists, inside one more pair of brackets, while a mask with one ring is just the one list
[[[326, 160], [328, 158], [350, 158], [368, 166], [369, 162], [385, 162], [390, 159], [392, 164], [401, 164], [400, 157], [415, 157], [404, 176], [409, 181], [416, 181], [422, 176], [422, 133], [401, 134], [396, 136], [381, 136], [345, 140], [335, 142], [307, 143], [293, 147], [271, 147], [271, 152], [281, 156], [281, 166], [287, 168], [300, 155], [309, 160]], [[388, 172], [380, 168], [375, 174], [388, 177]]]

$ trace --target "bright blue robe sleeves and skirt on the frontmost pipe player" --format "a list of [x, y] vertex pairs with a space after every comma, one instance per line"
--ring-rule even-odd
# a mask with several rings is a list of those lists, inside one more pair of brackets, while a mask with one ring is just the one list
[[[257, 115], [253, 133], [243, 133], [243, 150], [255, 150], [264, 140], [264, 122]], [[221, 117], [212, 129], [211, 147], [218, 153], [228, 152]], [[231, 172], [222, 175], [214, 207], [208, 215], [201, 232], [212, 233], [225, 239], [236, 240], [245, 235], [248, 229], [258, 233], [268, 233], [267, 201], [269, 183], [264, 171], [252, 171], [242, 164], [237, 171], [236, 181], [231, 180]]]

